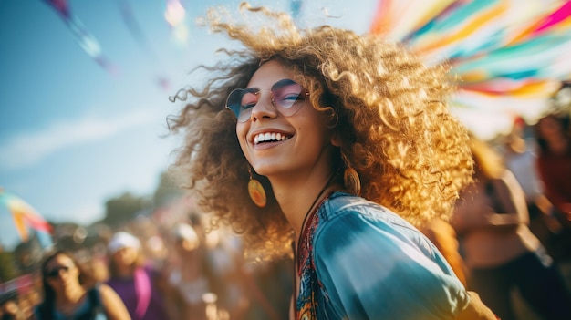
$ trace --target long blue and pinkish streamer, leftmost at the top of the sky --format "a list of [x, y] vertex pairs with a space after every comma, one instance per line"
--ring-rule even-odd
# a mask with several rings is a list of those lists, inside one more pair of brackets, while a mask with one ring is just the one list
[[118, 73], [118, 67], [113, 65], [109, 59], [103, 55], [95, 36], [92, 36], [81, 21], [71, 14], [67, 0], [44, 0], [44, 2], [56, 10], [57, 14], [64, 20], [71, 33], [75, 36], [78, 45], [81, 46], [89, 57], [95, 60], [100, 67], [109, 71], [109, 73]]

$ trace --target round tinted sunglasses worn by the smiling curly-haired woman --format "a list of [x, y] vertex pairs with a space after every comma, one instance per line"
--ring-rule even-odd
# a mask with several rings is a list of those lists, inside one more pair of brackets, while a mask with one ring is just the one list
[[282, 79], [269, 90], [261, 88], [237, 88], [226, 99], [226, 108], [234, 112], [238, 122], [246, 122], [252, 115], [252, 108], [260, 99], [260, 92], [270, 91], [272, 105], [285, 117], [293, 116], [304, 105], [309, 92], [294, 80]]

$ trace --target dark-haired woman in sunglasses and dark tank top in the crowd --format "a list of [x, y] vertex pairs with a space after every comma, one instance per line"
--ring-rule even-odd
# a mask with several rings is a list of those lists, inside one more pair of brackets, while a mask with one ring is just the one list
[[70, 253], [49, 254], [41, 273], [44, 297], [34, 312], [37, 320], [130, 319], [119, 295], [107, 284], [94, 284]]

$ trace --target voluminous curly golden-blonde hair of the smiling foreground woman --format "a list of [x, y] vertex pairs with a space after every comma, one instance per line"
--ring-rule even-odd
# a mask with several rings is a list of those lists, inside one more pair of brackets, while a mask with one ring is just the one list
[[358, 36], [332, 26], [299, 30], [289, 15], [247, 4], [240, 12], [247, 25], [230, 22], [222, 8], [211, 9], [205, 19], [211, 30], [244, 47], [223, 50], [229, 56], [225, 63], [202, 66], [216, 76], [202, 89], [179, 91], [172, 100], [187, 103], [168, 119], [171, 132], [183, 131], [185, 137], [174, 168], [196, 191], [202, 211], [212, 213], [213, 226], [231, 225], [250, 253], [262, 253], [258, 256], [291, 251], [293, 231], [269, 181], [255, 176], [268, 193], [265, 208], [248, 196], [248, 163], [234, 114], [224, 108], [228, 94], [245, 88], [270, 59], [298, 75], [313, 106], [331, 114], [342, 139], [336, 161], [358, 171], [364, 198], [417, 226], [437, 216], [448, 220], [472, 176], [468, 131], [447, 105], [454, 89], [449, 67], [425, 66], [379, 35]]

